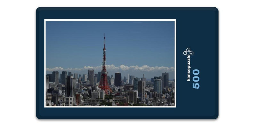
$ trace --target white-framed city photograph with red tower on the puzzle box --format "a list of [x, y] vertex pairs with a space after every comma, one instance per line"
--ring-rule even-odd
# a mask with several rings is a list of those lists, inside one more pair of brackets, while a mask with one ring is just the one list
[[45, 21], [45, 107], [176, 107], [176, 20]]

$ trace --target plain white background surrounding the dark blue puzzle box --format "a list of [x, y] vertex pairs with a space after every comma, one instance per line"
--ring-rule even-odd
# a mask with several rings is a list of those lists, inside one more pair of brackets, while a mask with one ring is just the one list
[[[219, 117], [215, 120], [39, 120], [36, 118], [37, 7], [217, 7]], [[255, 4], [214, 0], [1, 1], [1, 127], [255, 127]], [[211, 67], [209, 67], [211, 68]], [[15, 81], [15, 82], [13, 82]], [[206, 86], [206, 85], [205, 85]], [[192, 96], [193, 97], [193, 96]], [[125, 115], [125, 112], [121, 114]], [[103, 126], [105, 125], [105, 126]]]

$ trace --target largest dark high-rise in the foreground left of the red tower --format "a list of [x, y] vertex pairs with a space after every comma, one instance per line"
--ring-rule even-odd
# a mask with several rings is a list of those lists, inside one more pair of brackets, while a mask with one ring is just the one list
[[[68, 76], [65, 81], [65, 97], [73, 97], [73, 102], [76, 102], [76, 78]], [[73, 103], [75, 105], [76, 103]]]

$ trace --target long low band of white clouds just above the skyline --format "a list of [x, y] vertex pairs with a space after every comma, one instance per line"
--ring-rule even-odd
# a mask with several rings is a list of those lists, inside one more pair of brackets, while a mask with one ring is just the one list
[[[55, 67], [55, 68], [46, 68], [46, 71], [82, 71], [87, 69], [94, 69], [94, 70], [101, 70], [102, 66], [92, 67], [92, 66], [84, 66], [84, 68], [67, 68], [64, 69], [62, 67]], [[141, 67], [139, 66], [126, 66], [126, 65], [120, 65], [119, 67], [116, 67], [115, 65], [107, 65], [107, 70], [138, 70], [138, 71], [173, 71], [173, 67], [150, 67], [148, 65], [143, 65]]]

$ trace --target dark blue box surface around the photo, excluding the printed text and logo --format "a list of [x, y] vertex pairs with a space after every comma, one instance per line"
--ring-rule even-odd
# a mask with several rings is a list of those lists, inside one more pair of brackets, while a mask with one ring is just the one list
[[[177, 19], [177, 108], [44, 108], [44, 19]], [[36, 10], [36, 117], [39, 119], [216, 119], [218, 9], [215, 7], [39, 7]], [[187, 59], [200, 89], [186, 81]], [[168, 56], [167, 56], [168, 57]], [[192, 69], [192, 68], [191, 68]]]

